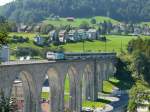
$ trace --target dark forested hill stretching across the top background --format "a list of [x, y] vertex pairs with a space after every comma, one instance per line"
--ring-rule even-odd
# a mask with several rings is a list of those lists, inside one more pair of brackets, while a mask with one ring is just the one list
[[15, 0], [0, 8], [0, 14], [16, 22], [33, 23], [61, 17], [106, 16], [120, 21], [150, 20], [150, 0]]

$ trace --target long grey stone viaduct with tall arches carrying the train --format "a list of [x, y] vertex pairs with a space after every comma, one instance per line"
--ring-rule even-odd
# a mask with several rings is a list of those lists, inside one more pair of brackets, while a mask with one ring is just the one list
[[66, 75], [70, 82], [69, 108], [80, 112], [82, 97], [97, 100], [103, 80], [115, 72], [115, 53], [99, 54], [98, 58], [77, 60], [13, 61], [0, 65], [0, 88], [10, 97], [14, 80], [23, 83], [24, 112], [41, 111], [41, 93], [45, 76], [48, 76], [51, 92], [51, 112], [64, 111], [64, 85]]

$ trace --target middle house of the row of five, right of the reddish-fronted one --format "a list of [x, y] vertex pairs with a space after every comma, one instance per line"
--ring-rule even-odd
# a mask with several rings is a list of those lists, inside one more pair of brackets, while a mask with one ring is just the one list
[[76, 30], [70, 30], [67, 35], [67, 40], [69, 41], [78, 41], [78, 32]]

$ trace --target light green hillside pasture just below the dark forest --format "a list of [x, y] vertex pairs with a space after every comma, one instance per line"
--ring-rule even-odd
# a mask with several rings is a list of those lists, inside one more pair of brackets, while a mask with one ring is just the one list
[[[103, 21], [110, 21], [113, 24], [119, 23], [118, 21], [111, 19], [111, 18], [108, 18], [108, 17], [96, 16], [93, 18], [96, 19], [97, 23], [100, 23]], [[95, 25], [91, 24], [91, 22], [90, 22], [91, 18], [76, 18], [73, 22], [67, 21], [66, 18], [60, 18], [60, 20], [46, 19], [45, 21], [43, 21], [43, 23], [52, 24], [54, 26], [71, 25], [72, 27], [79, 27], [83, 21], [88, 22], [90, 26], [95, 26]]]

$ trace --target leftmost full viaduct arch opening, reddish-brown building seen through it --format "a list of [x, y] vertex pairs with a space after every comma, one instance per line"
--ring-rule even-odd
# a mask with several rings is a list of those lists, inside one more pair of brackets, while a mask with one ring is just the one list
[[11, 88], [11, 98], [16, 101], [19, 112], [35, 112], [34, 87], [28, 72], [22, 71], [15, 77]]

